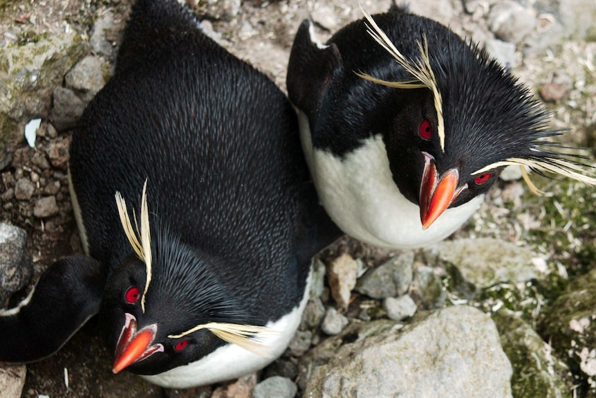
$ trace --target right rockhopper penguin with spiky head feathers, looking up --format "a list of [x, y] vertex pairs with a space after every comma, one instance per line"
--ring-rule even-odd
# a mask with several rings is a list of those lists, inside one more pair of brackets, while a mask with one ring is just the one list
[[526, 87], [475, 44], [396, 6], [327, 44], [304, 21], [287, 85], [322, 204], [376, 246], [444, 239], [505, 165], [526, 181], [529, 167], [596, 182], [552, 142], [561, 132]]

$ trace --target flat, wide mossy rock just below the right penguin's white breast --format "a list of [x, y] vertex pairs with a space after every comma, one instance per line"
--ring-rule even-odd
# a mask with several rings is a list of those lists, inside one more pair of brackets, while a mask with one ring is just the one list
[[435, 255], [464, 294], [474, 295], [499, 282], [526, 282], [538, 277], [532, 262], [537, 256], [532, 251], [499, 239], [445, 241], [425, 253], [427, 258]]

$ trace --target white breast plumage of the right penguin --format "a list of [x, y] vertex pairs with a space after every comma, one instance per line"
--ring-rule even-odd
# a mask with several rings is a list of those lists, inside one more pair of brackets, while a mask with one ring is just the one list
[[329, 216], [356, 239], [379, 247], [418, 248], [454, 233], [481, 205], [480, 195], [445, 210], [427, 230], [420, 208], [393, 181], [382, 136], [374, 135], [344, 156], [313, 147], [308, 117], [298, 115], [302, 148], [319, 199]]

